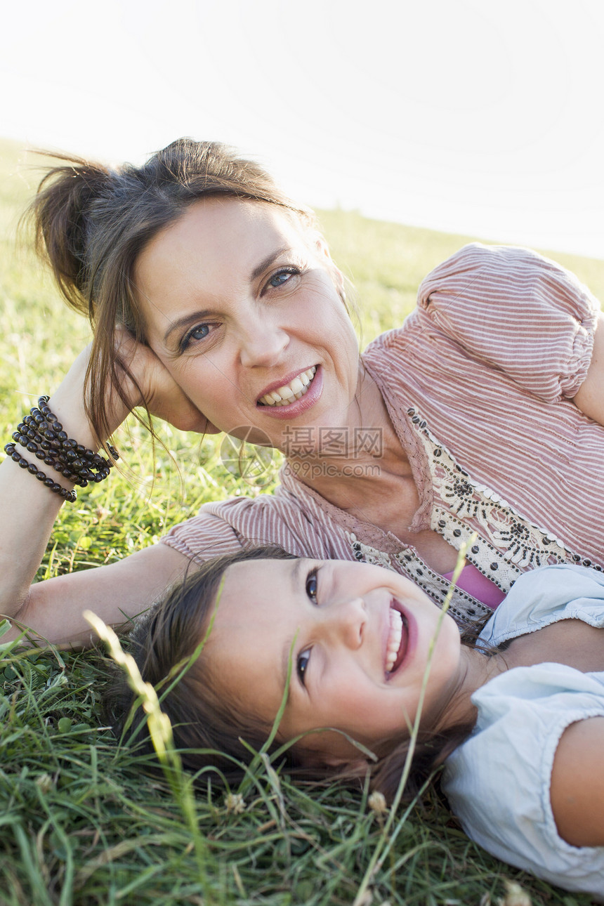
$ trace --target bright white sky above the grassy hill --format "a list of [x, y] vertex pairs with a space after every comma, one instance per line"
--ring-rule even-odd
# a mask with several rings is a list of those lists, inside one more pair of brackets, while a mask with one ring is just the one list
[[4, 0], [0, 135], [604, 258], [604, 0]]

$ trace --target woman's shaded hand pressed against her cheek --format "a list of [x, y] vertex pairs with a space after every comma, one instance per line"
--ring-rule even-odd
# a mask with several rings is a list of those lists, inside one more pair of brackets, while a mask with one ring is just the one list
[[131, 409], [146, 402], [152, 415], [168, 421], [177, 429], [197, 431], [199, 434], [217, 433], [214, 425], [208, 422], [206, 416], [188, 399], [149, 346], [136, 342], [123, 328], [116, 335], [120, 361], [136, 379], [140, 388], [139, 392], [134, 383], [125, 376], [126, 393], [132, 400]]

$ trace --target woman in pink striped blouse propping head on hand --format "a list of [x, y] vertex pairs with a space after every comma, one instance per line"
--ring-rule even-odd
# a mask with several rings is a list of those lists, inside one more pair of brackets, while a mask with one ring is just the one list
[[604, 565], [602, 315], [558, 265], [468, 246], [360, 358], [312, 218], [223, 146], [180, 140], [117, 173], [54, 169], [34, 217], [62, 293], [94, 327], [49, 402], [67, 435], [99, 448], [146, 404], [288, 458], [277, 495], [206, 506], [120, 564], [30, 590], [62, 497], [25, 470], [17, 433], [0, 470], [12, 514], [0, 607], [51, 641], [88, 636], [82, 601], [121, 622], [192, 560], [242, 545], [382, 564], [441, 602], [477, 532], [451, 607], [460, 624], [535, 565]]

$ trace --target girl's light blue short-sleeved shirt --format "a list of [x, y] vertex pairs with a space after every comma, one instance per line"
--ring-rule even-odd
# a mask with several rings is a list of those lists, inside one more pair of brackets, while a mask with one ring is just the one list
[[[500, 645], [570, 619], [604, 628], [604, 573], [566, 565], [525, 573], [480, 639]], [[604, 897], [604, 847], [562, 840], [550, 799], [562, 733], [577, 720], [604, 716], [604, 671], [581, 673], [556, 663], [516, 667], [487, 682], [472, 701], [475, 730], [443, 774], [465, 833], [503, 862], [566, 890]]]

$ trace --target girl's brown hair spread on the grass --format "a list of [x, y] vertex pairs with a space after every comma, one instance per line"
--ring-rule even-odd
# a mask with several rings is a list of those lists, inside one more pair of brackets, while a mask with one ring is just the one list
[[[193, 771], [212, 766], [229, 783], [242, 779], [244, 765], [251, 757], [249, 747], [255, 751], [263, 747], [271, 725], [254, 714], [244, 712], [235, 701], [225, 698], [220, 679], [212, 670], [211, 646], [209, 654], [201, 651], [177, 684], [173, 683], [173, 679], [206, 635], [225, 570], [233, 564], [258, 559], [295, 558], [280, 548], [257, 547], [209, 560], [197, 573], [177, 585], [163, 602], [139, 618], [130, 634], [132, 653], [142, 677], [158, 689], [161, 708], [170, 718], [183, 764]], [[166, 689], [169, 691], [164, 694]], [[115, 669], [114, 679], [105, 696], [105, 717], [118, 735], [129, 737], [130, 741], [151, 753], [146, 719], [140, 706], [135, 706], [134, 693], [121, 671]], [[441, 717], [445, 713], [446, 708]], [[412, 770], [407, 779], [406, 799], [417, 794], [436, 767], [472, 729], [471, 724], [463, 724], [440, 731], [438, 725], [439, 720], [436, 719], [436, 726], [422, 730], [417, 738]], [[282, 746], [283, 740], [276, 741], [269, 754]], [[401, 738], [394, 749], [391, 742], [386, 743], [383, 751], [378, 751], [376, 764], [368, 766], [372, 786], [384, 793], [388, 800], [392, 800], [397, 792], [408, 746], [408, 738]], [[287, 749], [283, 762], [292, 773], [309, 779], [331, 777], [358, 781], [359, 778], [358, 769], [351, 774], [341, 768], [318, 764], [314, 758], [310, 762], [304, 757], [303, 741]]]

